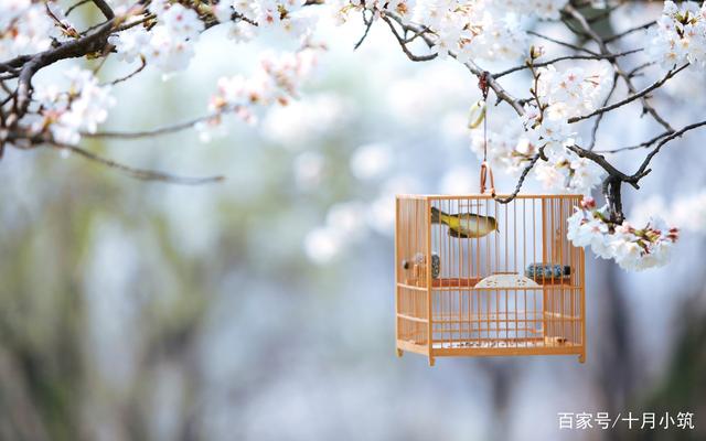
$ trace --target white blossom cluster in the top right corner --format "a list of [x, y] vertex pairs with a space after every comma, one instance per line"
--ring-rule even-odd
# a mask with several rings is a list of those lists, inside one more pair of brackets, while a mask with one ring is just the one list
[[646, 31], [646, 50], [664, 68], [691, 63], [706, 68], [706, 3], [665, 1], [656, 26]]

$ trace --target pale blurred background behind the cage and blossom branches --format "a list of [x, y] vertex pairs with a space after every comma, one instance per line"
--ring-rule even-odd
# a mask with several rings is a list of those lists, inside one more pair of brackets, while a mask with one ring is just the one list
[[[659, 10], [624, 10], [603, 25], [625, 29]], [[564, 25], [543, 26], [571, 39]], [[629, 217], [659, 212], [684, 227], [672, 263], [628, 273], [588, 256], [586, 364], [439, 358], [430, 368], [395, 356], [394, 194], [478, 190], [466, 129], [477, 82], [451, 61], [410, 63], [381, 23], [353, 51], [362, 31], [357, 20], [322, 21], [329, 50], [314, 78], [255, 127], [233, 120], [210, 143], [193, 130], [84, 141], [135, 166], [225, 174], [222, 184], [145, 183], [52, 150], [6, 152], [0, 439], [706, 438], [706, 132], [660, 153], [639, 193], [625, 189]], [[265, 50], [296, 49], [277, 35], [236, 45], [224, 34], [207, 31], [183, 74], [147, 69], [115, 86], [106, 129], [204, 115], [220, 76], [247, 75]], [[101, 77], [128, 72], [110, 61]], [[517, 94], [527, 82], [505, 79]], [[703, 118], [704, 83], [683, 74], [654, 100], [681, 127]], [[607, 117], [598, 149], [655, 133], [639, 115], [635, 105]], [[489, 121], [505, 118], [500, 106]], [[630, 171], [643, 154], [617, 163]], [[503, 191], [515, 185], [496, 179]], [[598, 411], [688, 411], [696, 429], [558, 429], [558, 412]]]

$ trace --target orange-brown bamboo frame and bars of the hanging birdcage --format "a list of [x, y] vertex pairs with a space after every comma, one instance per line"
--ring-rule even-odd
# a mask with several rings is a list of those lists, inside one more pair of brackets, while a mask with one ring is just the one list
[[[578, 362], [579, 363], [585, 363], [586, 362], [586, 256], [585, 256], [585, 251], [582, 248], [580, 247], [575, 247], [573, 244], [570, 244], [570, 241], [568, 241], [567, 246], [569, 248], [571, 248], [574, 251], [576, 252], [576, 257], [577, 257], [577, 268], [575, 269], [576, 271], [576, 278], [577, 278], [577, 283], [576, 286], [571, 286], [570, 290], [576, 291], [577, 295], [578, 295], [578, 315], [575, 316], [574, 319], [577, 320], [577, 324], [579, 327], [579, 335], [580, 335], [580, 344], [571, 344], [570, 346], [565, 346], [565, 345], [539, 345], [539, 346], [515, 346], [515, 347], [434, 347], [435, 346], [435, 342], [437, 342], [435, 340], [435, 324], [439, 324], [439, 321], [435, 321], [435, 316], [434, 316], [434, 295], [435, 295], [435, 287], [432, 283], [432, 273], [431, 273], [431, 265], [426, 265], [425, 271], [426, 275], [424, 277], [425, 280], [425, 284], [422, 287], [410, 287], [406, 283], [403, 283], [403, 280], [400, 279], [400, 258], [402, 258], [402, 252], [400, 252], [400, 202], [402, 201], [420, 201], [424, 203], [424, 213], [425, 213], [425, 219], [424, 219], [424, 229], [425, 229], [425, 244], [424, 244], [424, 255], [426, 258], [430, 258], [431, 254], [432, 254], [432, 222], [431, 222], [431, 207], [432, 207], [432, 203], [436, 202], [440, 202], [440, 201], [470, 201], [470, 200], [477, 200], [477, 201], [492, 201], [495, 204], [501, 204], [500, 202], [498, 202], [495, 200], [495, 197], [498, 198], [506, 198], [509, 197], [509, 195], [491, 195], [491, 194], [467, 194], [467, 195], [440, 195], [440, 194], [398, 194], [395, 197], [395, 348], [396, 348], [396, 354], [398, 357], [402, 357], [404, 355], [405, 352], [410, 352], [410, 353], [416, 353], [416, 354], [420, 354], [420, 355], [426, 355], [428, 357], [428, 363], [429, 366], [434, 366], [436, 358], [437, 357], [450, 357], [450, 356], [530, 356], [530, 355], [577, 355], [578, 357]], [[544, 209], [544, 201], [545, 200], [552, 200], [552, 201], [575, 201], [576, 205], [578, 206], [580, 204], [580, 201], [584, 196], [580, 194], [518, 194], [515, 195], [513, 197], [513, 200], [515, 200], [515, 202], [517, 200], [522, 201], [522, 200], [532, 200], [532, 201], [542, 201], [542, 209]], [[498, 206], [498, 205], [495, 205]], [[514, 208], [516, 209], [516, 208]], [[505, 213], [507, 213], [505, 211]], [[516, 213], [516, 212], [515, 212]], [[567, 213], [567, 217], [568, 217], [568, 213]], [[554, 222], [554, 220], [553, 220]], [[543, 235], [546, 228], [546, 224], [547, 224], [547, 219], [546, 219], [546, 214], [543, 212], [542, 213], [542, 230], [543, 230]], [[554, 226], [554, 224], [552, 224]], [[544, 238], [543, 238], [544, 241]], [[515, 244], [516, 245], [516, 244]], [[516, 252], [516, 251], [515, 251]], [[544, 250], [544, 243], [543, 243], [543, 252], [546, 252]], [[543, 261], [545, 260], [545, 258], [543, 257]], [[526, 263], [526, 261], [525, 261]], [[439, 287], [436, 287], [439, 288]], [[457, 287], [458, 288], [458, 287]], [[424, 304], [424, 310], [426, 312], [426, 319], [425, 318], [418, 318], [418, 316], [408, 316], [405, 315], [400, 312], [400, 291], [402, 289], [414, 289], [417, 291], [422, 291], [426, 295], [425, 295], [425, 304]], [[504, 290], [505, 292], [507, 291], [513, 291], [513, 293], [516, 295], [517, 290], [516, 289], [507, 289], [507, 288], [486, 288], [488, 290], [494, 290], [496, 292]], [[550, 284], [542, 284], [539, 289], [535, 289], [536, 291], [541, 291], [542, 292], [542, 315], [546, 316], [547, 312], [547, 292], [552, 291], [552, 290], [564, 290], [564, 289], [569, 289], [569, 288], [565, 288], [564, 286], [560, 286], [559, 288], [556, 288], [554, 286]], [[460, 289], [459, 288], [459, 292], [461, 291], [468, 291], [469, 295], [471, 292], [477, 291], [478, 289], [475, 287], [471, 287], [470, 284], [468, 286], [468, 288], [466, 289]], [[506, 295], [506, 294], [505, 294]], [[526, 294], [525, 294], [526, 295]], [[563, 295], [563, 294], [561, 294]], [[506, 299], [506, 298], [505, 298]], [[470, 300], [469, 300], [470, 301]], [[525, 297], [525, 301], [526, 301], [526, 297]], [[564, 300], [561, 300], [561, 302], [564, 302]], [[561, 306], [563, 308], [563, 306]], [[515, 312], [516, 313], [516, 312]], [[550, 313], [550, 312], [549, 312]], [[461, 313], [462, 314], [462, 313]], [[469, 312], [470, 314], [470, 312]], [[498, 313], [496, 313], [498, 315]], [[516, 318], [516, 315], [515, 315]], [[415, 343], [410, 343], [409, 341], [406, 341], [404, 338], [402, 338], [400, 335], [400, 320], [406, 320], [406, 321], [416, 321], [418, 323], [422, 323], [426, 324], [426, 332], [427, 332], [427, 338], [426, 338], [426, 344], [419, 345], [419, 344], [415, 344]], [[470, 320], [470, 319], [469, 319]], [[499, 319], [498, 319], [499, 320]], [[505, 312], [505, 321], [509, 321], [509, 313]], [[516, 325], [516, 322], [515, 322]], [[543, 333], [546, 333], [546, 329], [543, 325]], [[546, 336], [545, 336], [546, 338]]]

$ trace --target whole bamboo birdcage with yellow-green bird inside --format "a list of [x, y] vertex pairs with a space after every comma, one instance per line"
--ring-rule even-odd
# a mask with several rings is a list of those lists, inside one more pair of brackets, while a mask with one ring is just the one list
[[586, 357], [584, 252], [566, 238], [580, 195], [400, 195], [396, 347], [441, 356]]

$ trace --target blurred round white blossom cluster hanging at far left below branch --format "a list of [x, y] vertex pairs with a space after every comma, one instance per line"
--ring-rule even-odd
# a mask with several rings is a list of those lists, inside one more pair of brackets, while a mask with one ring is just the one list
[[90, 71], [74, 67], [64, 74], [68, 87], [38, 85], [34, 98], [36, 112], [25, 117], [33, 132], [49, 133], [60, 143], [77, 144], [81, 132], [95, 132], [108, 117], [108, 108], [115, 105], [109, 86], [98, 85]]

